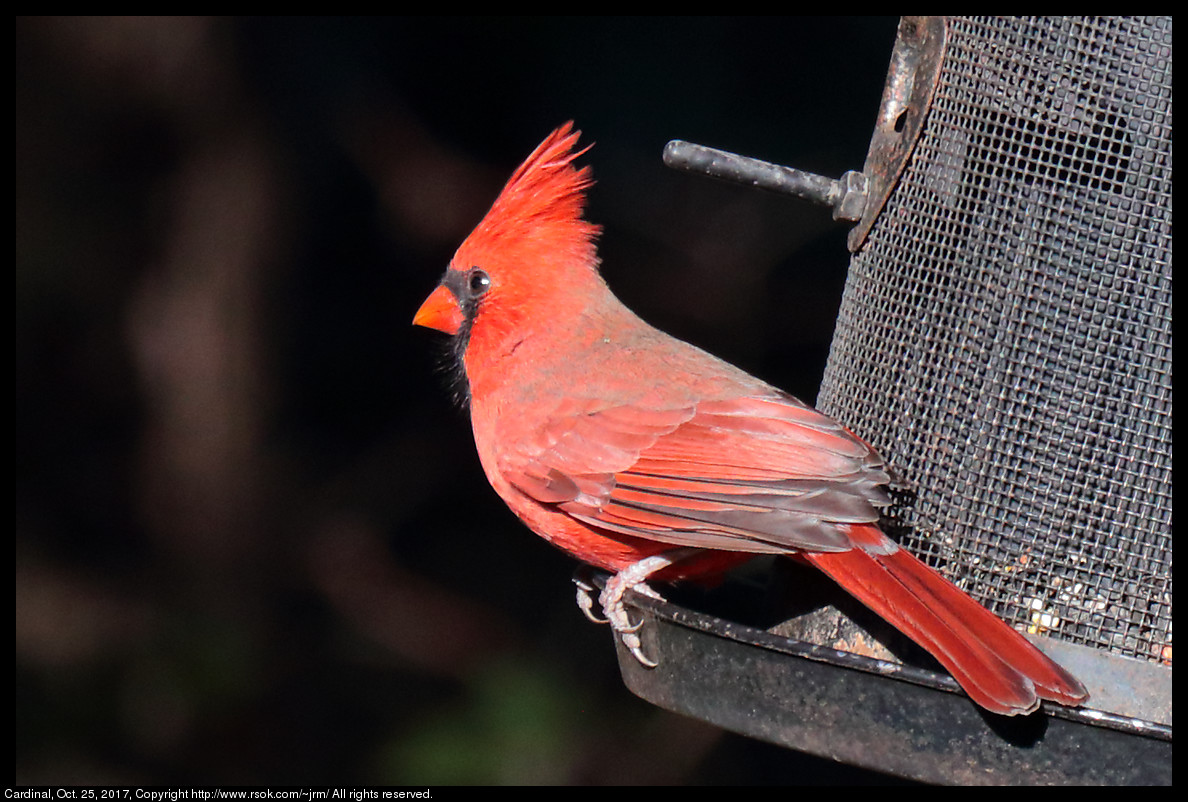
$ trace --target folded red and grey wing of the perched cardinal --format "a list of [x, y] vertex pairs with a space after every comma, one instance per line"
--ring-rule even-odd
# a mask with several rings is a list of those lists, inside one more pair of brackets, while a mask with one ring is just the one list
[[[571, 402], [499, 457], [522, 493], [590, 526], [751, 552], [845, 551], [889, 504], [883, 461], [791, 396], [658, 409]], [[840, 524], [840, 525], [835, 525]]]

